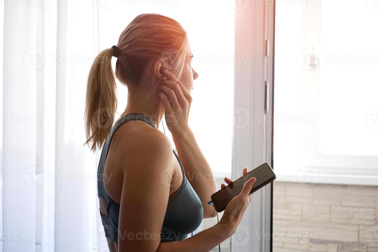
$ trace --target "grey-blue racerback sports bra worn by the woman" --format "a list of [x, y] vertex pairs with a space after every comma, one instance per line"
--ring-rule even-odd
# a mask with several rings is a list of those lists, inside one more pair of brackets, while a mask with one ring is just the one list
[[[116, 243], [118, 243], [119, 204], [115, 203], [105, 191], [104, 167], [108, 155], [108, 147], [115, 131], [125, 122], [132, 120], [142, 120], [156, 128], [153, 122], [143, 114], [127, 114], [119, 119], [115, 125], [113, 125], [110, 135], [102, 148], [97, 172], [98, 197], [104, 199], [107, 206], [106, 215], [103, 215], [100, 211], [102, 225], [104, 226], [105, 236]], [[180, 158], [178, 158], [175, 151], [173, 152], [180, 163], [181, 171], [183, 173], [183, 181], [181, 182], [181, 186], [169, 196], [163, 227], [160, 233], [161, 242], [180, 241], [185, 239], [189, 233], [193, 232], [198, 226], [200, 226], [203, 218], [203, 206], [201, 201], [184, 174], [184, 167]], [[136, 218], [143, 218], [143, 216], [136, 216]], [[125, 230], [123, 230], [123, 232], [124, 231]], [[122, 235], [122, 232], [119, 233]], [[121, 237], [124, 237], [124, 235]], [[127, 235], [125, 238], [127, 238]]]

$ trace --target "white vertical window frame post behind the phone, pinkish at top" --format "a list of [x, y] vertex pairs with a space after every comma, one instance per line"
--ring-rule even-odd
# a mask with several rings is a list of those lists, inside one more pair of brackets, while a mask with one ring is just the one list
[[[235, 12], [235, 56], [248, 56], [245, 67], [235, 64], [234, 132], [232, 177], [237, 178], [244, 167], [253, 170], [268, 162], [273, 167], [273, 122], [260, 120], [256, 114], [272, 116], [274, 4], [269, 1], [245, 1], [246, 9]], [[270, 41], [270, 55], [266, 56]], [[265, 81], [268, 81], [268, 112], [265, 113]], [[249, 123], [240, 127], [237, 119], [243, 112]], [[274, 168], [274, 167], [273, 167]], [[254, 193], [239, 227], [231, 238], [231, 250], [272, 251], [273, 183]], [[247, 240], [240, 241], [240, 235]], [[239, 235], [239, 237], [238, 237]]]

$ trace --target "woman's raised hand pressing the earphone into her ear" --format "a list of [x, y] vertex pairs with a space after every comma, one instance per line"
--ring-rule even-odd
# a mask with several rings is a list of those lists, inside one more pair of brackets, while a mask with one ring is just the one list
[[167, 79], [161, 80], [159, 93], [165, 107], [165, 119], [172, 135], [181, 135], [189, 130], [188, 117], [192, 96], [172, 73], [163, 71]]

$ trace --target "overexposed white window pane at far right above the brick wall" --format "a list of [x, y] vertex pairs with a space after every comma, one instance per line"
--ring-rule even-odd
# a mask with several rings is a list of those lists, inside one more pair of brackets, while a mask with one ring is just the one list
[[378, 15], [366, 3], [322, 2], [319, 151], [325, 154], [378, 155], [378, 33], [372, 30]]

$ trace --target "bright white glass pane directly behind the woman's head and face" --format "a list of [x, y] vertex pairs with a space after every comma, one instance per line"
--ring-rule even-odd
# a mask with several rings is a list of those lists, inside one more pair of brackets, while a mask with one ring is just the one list
[[[193, 102], [189, 125], [213, 169], [219, 190], [224, 176], [231, 177], [232, 173], [232, 122], [229, 122], [229, 113], [233, 108], [234, 88], [234, 9], [228, 2], [221, 4], [201, 0], [166, 1], [165, 5], [110, 2], [111, 8], [105, 8], [105, 5], [104, 10], [99, 12], [101, 49], [115, 45], [121, 31], [141, 13], [166, 15], [180, 22], [187, 31], [194, 54], [192, 66], [199, 74], [191, 92]], [[118, 84], [118, 113], [121, 114], [126, 106], [127, 88]], [[166, 135], [175, 146], [164, 119], [159, 126], [161, 131], [163, 125]], [[219, 218], [221, 216], [222, 213]], [[216, 223], [216, 217], [203, 219], [194, 234]], [[221, 244], [221, 250], [231, 250], [231, 238]], [[218, 251], [218, 246], [214, 251]]]

